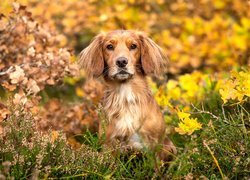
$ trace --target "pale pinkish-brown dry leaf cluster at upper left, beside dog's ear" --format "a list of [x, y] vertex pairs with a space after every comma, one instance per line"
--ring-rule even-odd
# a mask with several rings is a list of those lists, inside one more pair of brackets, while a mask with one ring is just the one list
[[14, 4], [8, 18], [1, 16], [0, 84], [15, 104], [36, 113], [46, 85], [74, 74], [70, 52], [58, 47], [58, 36], [37, 24], [26, 7]]

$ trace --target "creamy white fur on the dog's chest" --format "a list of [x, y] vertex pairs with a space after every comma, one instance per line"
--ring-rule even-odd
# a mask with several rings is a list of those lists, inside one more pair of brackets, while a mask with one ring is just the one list
[[112, 138], [131, 136], [140, 128], [139, 98], [130, 84], [122, 84], [112, 93], [106, 99], [105, 105], [108, 118], [115, 125]]

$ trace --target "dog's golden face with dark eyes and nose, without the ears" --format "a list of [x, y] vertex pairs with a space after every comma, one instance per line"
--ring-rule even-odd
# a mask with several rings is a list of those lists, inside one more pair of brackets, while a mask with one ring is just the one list
[[139, 68], [140, 46], [139, 37], [134, 33], [109, 33], [102, 47], [107, 76], [117, 81], [132, 78]]

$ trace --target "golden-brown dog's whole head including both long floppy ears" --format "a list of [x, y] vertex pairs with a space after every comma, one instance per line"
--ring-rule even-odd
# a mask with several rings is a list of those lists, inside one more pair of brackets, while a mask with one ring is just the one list
[[167, 62], [162, 49], [142, 32], [117, 30], [97, 35], [79, 56], [89, 77], [124, 82], [135, 75], [159, 75]]

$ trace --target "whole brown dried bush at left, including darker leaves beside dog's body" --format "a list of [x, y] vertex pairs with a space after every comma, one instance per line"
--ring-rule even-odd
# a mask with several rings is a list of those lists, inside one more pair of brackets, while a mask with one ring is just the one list
[[46, 86], [77, 73], [71, 51], [60, 46], [61, 35], [39, 25], [25, 6], [14, 3], [8, 17], [0, 15], [0, 37], [0, 86], [8, 97], [2, 96], [0, 122], [10, 114], [6, 104], [11, 104], [31, 112], [43, 131], [64, 130], [73, 135], [80, 134], [83, 126], [96, 131], [98, 115], [93, 105], [69, 105], [58, 99], [39, 105], [39, 93]]

